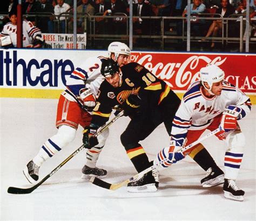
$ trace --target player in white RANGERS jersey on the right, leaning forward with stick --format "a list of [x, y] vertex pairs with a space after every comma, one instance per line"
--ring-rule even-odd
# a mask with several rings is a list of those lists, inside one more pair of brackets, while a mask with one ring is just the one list
[[[227, 146], [224, 196], [242, 201], [245, 192], [237, 186], [235, 180], [244, 153], [245, 137], [237, 121], [251, 111], [251, 101], [237, 87], [225, 81], [224, 77], [223, 70], [218, 66], [209, 64], [201, 68], [200, 81], [190, 85], [174, 117], [170, 147], [162, 149], [155, 162], [169, 158], [173, 162], [167, 161], [162, 167], [176, 163], [186, 155], [186, 152], [179, 152], [182, 147], [196, 141], [206, 129], [213, 131], [221, 125], [223, 130], [216, 136], [225, 140]], [[212, 168], [207, 172], [208, 176], [214, 173]], [[207, 176], [204, 184], [207, 186]]]

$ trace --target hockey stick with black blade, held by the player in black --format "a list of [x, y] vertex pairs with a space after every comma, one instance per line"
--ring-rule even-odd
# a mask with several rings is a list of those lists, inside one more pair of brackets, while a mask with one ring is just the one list
[[[100, 133], [105, 131], [107, 128], [109, 128], [110, 125], [112, 125], [118, 118], [122, 117], [124, 115], [124, 111], [121, 111], [118, 113], [118, 115], [114, 118], [112, 118], [109, 122], [104, 124], [103, 126], [99, 127], [97, 132], [93, 134], [93, 137], [98, 137]], [[69, 160], [73, 158], [77, 153], [82, 151], [82, 149], [85, 148], [84, 145], [80, 146], [75, 152], [73, 152], [68, 158], [66, 158], [62, 163], [60, 163], [55, 169], [52, 170], [51, 173], [46, 175], [43, 180], [38, 182], [35, 186], [30, 188], [18, 188], [18, 187], [9, 187], [7, 192], [9, 194], [30, 194], [33, 190], [35, 190], [37, 187], [41, 186], [42, 183], [44, 183], [46, 180], [48, 180], [53, 174], [55, 174], [62, 166], [64, 166]]]

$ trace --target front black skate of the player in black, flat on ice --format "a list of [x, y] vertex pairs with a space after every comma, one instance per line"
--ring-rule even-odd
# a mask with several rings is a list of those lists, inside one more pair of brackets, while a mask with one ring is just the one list
[[158, 184], [152, 172], [145, 174], [143, 177], [127, 184], [127, 191], [131, 193], [150, 193], [157, 191]]

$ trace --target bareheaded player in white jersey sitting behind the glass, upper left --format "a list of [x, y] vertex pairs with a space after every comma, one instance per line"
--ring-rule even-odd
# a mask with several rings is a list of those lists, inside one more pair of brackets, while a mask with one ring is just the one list
[[[17, 13], [16, 11], [11, 11], [9, 13], [10, 21], [5, 24], [2, 30], [2, 47], [17, 47]], [[28, 20], [23, 20], [23, 47], [33, 47], [38, 48], [43, 45], [43, 37], [41, 30], [34, 26]], [[10, 41], [6, 41], [6, 38]], [[4, 45], [3, 42], [8, 42]]]

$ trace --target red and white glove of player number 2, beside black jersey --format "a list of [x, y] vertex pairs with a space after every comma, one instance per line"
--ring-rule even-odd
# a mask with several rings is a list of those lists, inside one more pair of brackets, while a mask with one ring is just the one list
[[91, 112], [96, 105], [96, 98], [93, 95], [91, 89], [83, 88], [79, 91], [79, 94], [80, 96], [78, 96], [78, 99], [82, 103], [83, 109]]

